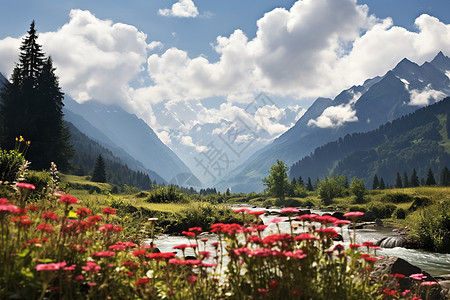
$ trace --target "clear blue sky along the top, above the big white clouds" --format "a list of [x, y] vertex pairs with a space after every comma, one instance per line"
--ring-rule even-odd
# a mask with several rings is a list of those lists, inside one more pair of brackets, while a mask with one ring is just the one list
[[[295, 1], [272, 0], [197, 0], [200, 17], [176, 18], [158, 14], [175, 1], [167, 0], [15, 0], [2, 4], [0, 38], [18, 37], [35, 19], [40, 32], [54, 31], [69, 20], [71, 9], [89, 10], [101, 19], [111, 19], [136, 26], [154, 40], [167, 46], [186, 49], [191, 55], [205, 54], [217, 59], [210, 43], [218, 35], [227, 36], [242, 29], [249, 38], [255, 36], [256, 20], [275, 7], [289, 8]], [[448, 0], [359, 0], [379, 18], [391, 17], [398, 26], [415, 30], [414, 20], [427, 13], [450, 23]], [[174, 37], [172, 33], [176, 33]]]

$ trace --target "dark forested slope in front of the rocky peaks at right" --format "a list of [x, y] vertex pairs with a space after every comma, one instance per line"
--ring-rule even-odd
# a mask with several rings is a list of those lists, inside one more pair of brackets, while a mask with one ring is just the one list
[[363, 178], [366, 186], [374, 175], [394, 184], [397, 172], [426, 177], [450, 165], [450, 97], [367, 133], [316, 148], [290, 168], [290, 178], [323, 178], [345, 175]]

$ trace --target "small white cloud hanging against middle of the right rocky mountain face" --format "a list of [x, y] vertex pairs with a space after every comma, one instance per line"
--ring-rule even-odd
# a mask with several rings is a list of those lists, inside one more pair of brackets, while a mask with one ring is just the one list
[[347, 122], [356, 122], [358, 117], [356, 111], [350, 104], [341, 104], [337, 106], [327, 107], [322, 115], [317, 119], [308, 121], [308, 126], [316, 126], [320, 128], [340, 127]]

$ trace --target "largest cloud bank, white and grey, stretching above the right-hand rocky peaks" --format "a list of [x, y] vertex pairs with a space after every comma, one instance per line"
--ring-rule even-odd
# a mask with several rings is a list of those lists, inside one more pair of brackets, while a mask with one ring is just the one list
[[420, 64], [440, 50], [450, 53], [449, 25], [429, 15], [415, 25], [416, 31], [408, 31], [390, 18], [378, 19], [356, 0], [299, 0], [290, 9], [267, 12], [251, 40], [240, 29], [217, 37], [218, 61], [178, 48], [150, 56], [155, 84], [136, 97], [158, 102], [221, 96], [234, 103], [251, 101], [245, 95], [259, 91], [334, 97], [383, 75], [404, 57]]

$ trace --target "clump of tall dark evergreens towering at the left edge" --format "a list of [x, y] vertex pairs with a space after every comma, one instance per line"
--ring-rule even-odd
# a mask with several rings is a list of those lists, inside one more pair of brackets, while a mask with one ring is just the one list
[[15, 138], [23, 136], [31, 141], [27, 159], [32, 168], [48, 168], [54, 161], [59, 169], [66, 170], [73, 151], [63, 121], [64, 94], [52, 60], [45, 58], [37, 38], [33, 21], [22, 40], [11, 83], [1, 92], [2, 146], [12, 148]]

